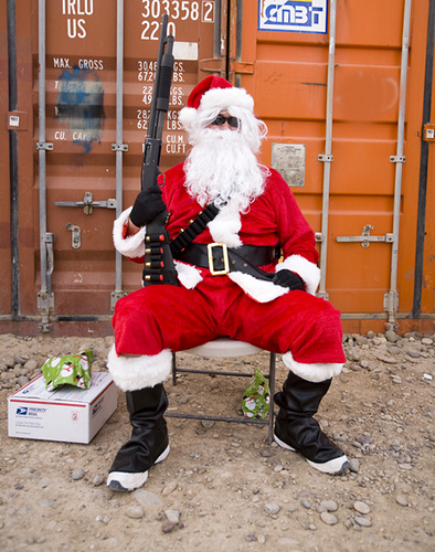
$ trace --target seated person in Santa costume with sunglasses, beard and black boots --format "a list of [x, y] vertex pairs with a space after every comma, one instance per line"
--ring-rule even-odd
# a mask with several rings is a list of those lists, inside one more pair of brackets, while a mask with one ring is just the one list
[[109, 470], [112, 489], [142, 486], [148, 469], [169, 454], [162, 382], [172, 353], [220, 337], [283, 354], [289, 373], [275, 395], [276, 443], [320, 471], [349, 467], [312, 417], [346, 361], [340, 312], [315, 295], [315, 235], [291, 191], [257, 162], [267, 129], [253, 109], [244, 89], [216, 76], [202, 81], [180, 112], [192, 146], [187, 160], [115, 222], [116, 248], [142, 263], [146, 226], [157, 214], [169, 211], [176, 243], [214, 205], [206, 227], [190, 234], [181, 251], [174, 247], [179, 286], [146, 286], [116, 304], [108, 369], [126, 392], [132, 434]]

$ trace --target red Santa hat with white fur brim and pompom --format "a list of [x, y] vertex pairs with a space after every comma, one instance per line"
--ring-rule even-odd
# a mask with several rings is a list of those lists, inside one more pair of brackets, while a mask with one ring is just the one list
[[181, 109], [179, 119], [184, 127], [192, 125], [198, 114], [205, 109], [244, 107], [254, 110], [254, 99], [244, 88], [236, 88], [221, 76], [210, 75], [190, 93], [188, 107]]

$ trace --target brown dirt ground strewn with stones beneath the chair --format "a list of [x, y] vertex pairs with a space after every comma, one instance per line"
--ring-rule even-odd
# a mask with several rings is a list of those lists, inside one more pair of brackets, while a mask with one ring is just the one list
[[[117, 411], [88, 445], [8, 437], [7, 397], [40, 373], [46, 357], [92, 348], [93, 371], [106, 371], [112, 342], [0, 336], [1, 550], [435, 550], [433, 336], [347, 336], [347, 364], [318, 413], [352, 460], [346, 475], [320, 474], [268, 445], [264, 425], [168, 418], [171, 453], [132, 493], [105, 485], [130, 434], [120, 392]], [[267, 353], [177, 357], [184, 368], [268, 368]], [[286, 372], [279, 359], [277, 388]], [[166, 384], [169, 412], [237, 415], [247, 384], [181, 374], [177, 386]]]

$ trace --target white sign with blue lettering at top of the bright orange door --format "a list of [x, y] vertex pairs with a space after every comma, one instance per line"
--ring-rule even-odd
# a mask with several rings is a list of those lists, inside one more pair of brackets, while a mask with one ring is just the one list
[[259, 0], [258, 30], [328, 32], [328, 0]]

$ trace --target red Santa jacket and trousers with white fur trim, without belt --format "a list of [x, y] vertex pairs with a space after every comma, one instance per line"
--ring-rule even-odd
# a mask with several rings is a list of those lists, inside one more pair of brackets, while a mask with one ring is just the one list
[[[183, 163], [166, 173], [162, 199], [170, 212], [171, 238], [203, 210], [184, 182]], [[114, 243], [121, 254], [142, 263], [145, 229], [126, 235], [130, 210], [115, 222]], [[170, 375], [172, 352], [220, 337], [280, 352], [285, 364], [308, 381], [340, 373], [346, 361], [340, 312], [315, 296], [320, 279], [315, 235], [277, 171], [269, 169], [264, 192], [246, 213], [233, 209], [230, 201], [194, 242], [234, 248], [279, 244], [282, 261], [262, 268], [298, 274], [305, 290], [290, 291], [242, 272], [213, 276], [208, 268], [176, 262], [180, 286], [147, 286], [116, 304], [115, 348], [108, 367], [118, 386], [128, 391], [160, 383]]]

